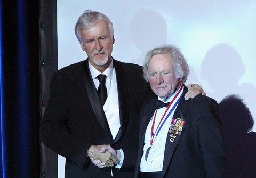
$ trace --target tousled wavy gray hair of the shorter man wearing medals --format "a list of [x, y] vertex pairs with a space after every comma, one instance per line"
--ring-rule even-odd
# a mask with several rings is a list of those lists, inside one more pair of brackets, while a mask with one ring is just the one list
[[174, 45], [162, 45], [147, 53], [143, 63], [143, 75], [145, 80], [149, 82], [148, 65], [153, 56], [157, 54], [169, 54], [171, 56], [171, 59], [174, 61], [176, 78], [182, 78], [182, 82], [185, 83], [188, 78], [189, 67], [180, 49]]

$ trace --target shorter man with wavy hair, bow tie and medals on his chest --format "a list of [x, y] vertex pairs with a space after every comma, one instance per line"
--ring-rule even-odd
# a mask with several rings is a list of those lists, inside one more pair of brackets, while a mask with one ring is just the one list
[[135, 177], [225, 177], [218, 103], [203, 95], [183, 98], [189, 68], [180, 50], [172, 45], [155, 48], [143, 67], [153, 92], [140, 114]]

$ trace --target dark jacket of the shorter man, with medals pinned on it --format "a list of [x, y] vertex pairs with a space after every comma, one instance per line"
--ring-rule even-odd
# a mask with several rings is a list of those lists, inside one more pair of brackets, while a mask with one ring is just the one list
[[[186, 101], [183, 95], [173, 118], [185, 120], [182, 134], [171, 142], [168, 133], [161, 177], [225, 177], [226, 147], [223, 141], [218, 103], [207, 96], [197, 95]], [[135, 177], [139, 177], [140, 160], [146, 128], [155, 111], [157, 96], [151, 92], [142, 106], [140, 136]]]

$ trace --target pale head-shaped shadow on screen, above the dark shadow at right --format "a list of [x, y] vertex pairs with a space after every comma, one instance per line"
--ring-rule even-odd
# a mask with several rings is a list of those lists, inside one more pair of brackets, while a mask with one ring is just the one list
[[241, 56], [225, 43], [217, 44], [207, 51], [201, 64], [201, 78], [205, 79], [213, 90], [206, 91], [207, 95], [220, 102], [229, 94], [239, 94], [254, 117], [256, 88], [252, 83], [239, 84], [244, 72], [245, 66]]

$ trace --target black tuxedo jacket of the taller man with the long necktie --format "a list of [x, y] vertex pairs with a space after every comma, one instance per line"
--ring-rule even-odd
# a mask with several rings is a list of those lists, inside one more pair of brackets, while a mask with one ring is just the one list
[[49, 105], [41, 123], [42, 140], [66, 158], [65, 177], [110, 177], [110, 168], [100, 169], [89, 161], [92, 144], [110, 144], [123, 149], [121, 169], [113, 168], [114, 177], [132, 177], [138, 147], [138, 114], [149, 91], [141, 66], [114, 60], [121, 128], [111, 136], [105, 113], [94, 86], [88, 60], [55, 72], [51, 82]]

